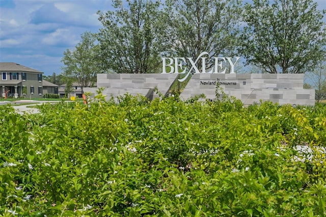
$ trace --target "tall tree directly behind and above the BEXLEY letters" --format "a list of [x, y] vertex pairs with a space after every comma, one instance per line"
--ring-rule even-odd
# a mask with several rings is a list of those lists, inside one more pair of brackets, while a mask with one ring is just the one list
[[[170, 43], [178, 57], [196, 60], [206, 51], [206, 67], [211, 68], [212, 57], [234, 55], [241, 18], [240, 1], [167, 0], [166, 4]], [[202, 66], [200, 61], [197, 65], [199, 69]]]

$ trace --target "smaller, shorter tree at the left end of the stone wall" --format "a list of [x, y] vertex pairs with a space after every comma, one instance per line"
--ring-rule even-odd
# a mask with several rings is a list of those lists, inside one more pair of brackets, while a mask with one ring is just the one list
[[100, 72], [97, 62], [98, 45], [95, 44], [95, 35], [86, 32], [74, 50], [64, 51], [61, 62], [63, 75], [72, 78], [84, 87], [91, 87], [96, 82], [96, 74]]

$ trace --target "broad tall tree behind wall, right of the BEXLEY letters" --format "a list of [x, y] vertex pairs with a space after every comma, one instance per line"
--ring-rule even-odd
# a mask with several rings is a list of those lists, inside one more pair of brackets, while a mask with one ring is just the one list
[[244, 9], [240, 51], [247, 64], [269, 73], [304, 73], [325, 52], [325, 11], [312, 0], [253, 0]]

